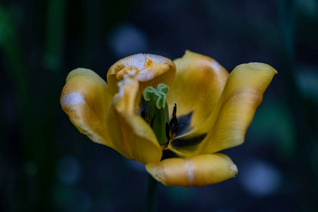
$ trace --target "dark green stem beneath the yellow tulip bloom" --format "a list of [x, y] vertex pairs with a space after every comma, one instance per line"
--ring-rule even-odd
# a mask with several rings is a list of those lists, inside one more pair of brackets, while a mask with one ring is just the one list
[[146, 212], [154, 212], [156, 206], [156, 197], [158, 182], [151, 175], [148, 177], [148, 189], [146, 196]]

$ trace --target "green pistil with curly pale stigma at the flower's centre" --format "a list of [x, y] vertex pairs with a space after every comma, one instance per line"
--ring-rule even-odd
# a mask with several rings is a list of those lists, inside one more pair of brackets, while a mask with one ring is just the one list
[[167, 94], [170, 88], [163, 83], [158, 84], [157, 89], [148, 87], [143, 90], [143, 98], [148, 101], [148, 123], [151, 124], [155, 136], [163, 145], [167, 142], [166, 124], [169, 124], [169, 107]]

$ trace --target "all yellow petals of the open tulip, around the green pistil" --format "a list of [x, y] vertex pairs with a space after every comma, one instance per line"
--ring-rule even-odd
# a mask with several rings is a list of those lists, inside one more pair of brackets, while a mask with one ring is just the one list
[[[267, 64], [249, 63], [229, 74], [214, 59], [189, 51], [173, 62], [135, 54], [110, 67], [107, 83], [89, 69], [71, 71], [61, 107], [81, 133], [146, 164], [163, 184], [204, 186], [237, 174], [232, 160], [218, 151], [243, 143], [276, 73]], [[170, 87], [170, 112], [177, 105], [178, 129], [165, 145], [141, 117], [143, 90], [160, 83]]]

